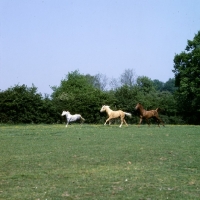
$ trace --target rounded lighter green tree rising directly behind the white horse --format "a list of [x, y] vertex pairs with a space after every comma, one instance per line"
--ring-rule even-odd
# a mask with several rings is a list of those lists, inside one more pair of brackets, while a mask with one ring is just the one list
[[107, 94], [96, 87], [95, 77], [69, 72], [60, 86], [52, 87], [52, 101], [58, 112], [68, 110], [71, 114], [80, 113], [86, 123], [97, 123], [101, 119], [100, 108], [106, 103]]

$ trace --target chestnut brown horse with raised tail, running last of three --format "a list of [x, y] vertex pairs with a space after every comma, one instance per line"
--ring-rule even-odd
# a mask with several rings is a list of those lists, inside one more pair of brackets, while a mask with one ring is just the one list
[[150, 123], [149, 123], [149, 119], [150, 118], [155, 118], [157, 120], [157, 123], [158, 123], [159, 127], [160, 127], [160, 125], [159, 125], [160, 123], [162, 123], [162, 125], [165, 126], [164, 123], [163, 123], [163, 121], [162, 121], [162, 119], [160, 119], [160, 117], [158, 116], [158, 110], [159, 110], [159, 108], [156, 108], [156, 110], [149, 110], [149, 111], [147, 111], [147, 110], [145, 110], [143, 108], [142, 104], [138, 103], [136, 105], [136, 107], [135, 107], [135, 110], [138, 110], [139, 114], [140, 114], [140, 122], [138, 124], [138, 127], [141, 124], [141, 122], [142, 122], [143, 119], [146, 119], [148, 125], [150, 126]]

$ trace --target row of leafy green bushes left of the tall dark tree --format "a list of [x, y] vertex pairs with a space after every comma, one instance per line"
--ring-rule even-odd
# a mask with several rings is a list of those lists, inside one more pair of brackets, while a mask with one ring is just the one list
[[[103, 75], [83, 75], [79, 71], [68, 73], [59, 86], [52, 87], [51, 98], [37, 93], [34, 85], [9, 88], [0, 92], [0, 122], [65, 123], [61, 113], [66, 110], [81, 114], [85, 123], [104, 123], [107, 114], [100, 113], [100, 108], [109, 105], [112, 110], [132, 113], [133, 117], [126, 120], [129, 124], [136, 124], [139, 117], [135, 106], [140, 102], [146, 110], [159, 107], [165, 123], [183, 123], [173, 95], [174, 79], [161, 84], [158, 80], [140, 76], [135, 84], [124, 84], [114, 90], [104, 90], [102, 80], [106, 80]], [[160, 89], [159, 85], [162, 85]]]

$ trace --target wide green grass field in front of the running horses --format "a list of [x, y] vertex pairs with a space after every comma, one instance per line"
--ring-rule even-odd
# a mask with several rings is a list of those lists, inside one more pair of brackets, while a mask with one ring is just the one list
[[200, 199], [200, 126], [0, 125], [0, 199]]

